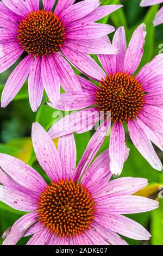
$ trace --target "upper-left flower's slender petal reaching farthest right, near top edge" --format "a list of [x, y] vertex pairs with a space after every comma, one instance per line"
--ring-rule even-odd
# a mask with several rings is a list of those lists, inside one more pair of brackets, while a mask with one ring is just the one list
[[101, 5], [97, 7], [92, 13], [87, 14], [82, 18], [82, 21], [85, 22], [95, 22], [101, 20], [106, 15], [113, 13], [114, 11], [123, 7], [121, 4], [109, 4], [109, 5]]

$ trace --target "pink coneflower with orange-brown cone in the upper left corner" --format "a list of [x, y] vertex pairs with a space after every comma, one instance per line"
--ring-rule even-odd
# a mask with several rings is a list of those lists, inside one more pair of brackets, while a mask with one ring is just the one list
[[39, 8], [40, 0], [0, 2], [0, 73], [24, 53], [5, 84], [1, 107], [6, 107], [14, 99], [28, 75], [29, 101], [33, 111], [40, 106], [43, 89], [49, 100], [56, 104], [60, 86], [66, 92], [82, 90], [67, 60], [71, 62], [77, 58], [77, 68], [85, 71], [86, 66], [96, 67], [89, 53], [117, 52], [114, 46], [101, 40], [103, 35], [115, 31], [114, 27], [95, 21], [122, 5], [100, 6], [99, 0], [76, 4], [73, 4], [74, 0], [59, 0], [53, 11], [55, 0], [42, 2], [43, 9]]

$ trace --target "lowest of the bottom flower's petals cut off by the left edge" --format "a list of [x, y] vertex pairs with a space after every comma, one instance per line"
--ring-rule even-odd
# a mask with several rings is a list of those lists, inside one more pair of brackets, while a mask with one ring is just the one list
[[20, 211], [35, 211], [37, 208], [36, 201], [28, 194], [2, 185], [0, 185], [0, 200], [11, 208]]

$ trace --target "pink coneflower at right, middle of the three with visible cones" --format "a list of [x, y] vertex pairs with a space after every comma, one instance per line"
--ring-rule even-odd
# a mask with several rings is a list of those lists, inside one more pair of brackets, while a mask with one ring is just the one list
[[[133, 75], [141, 62], [145, 36], [145, 25], [142, 24], [135, 30], [126, 52], [125, 31], [123, 27], [118, 28], [112, 44], [119, 48], [119, 53], [98, 56], [105, 70], [98, 67], [103, 73], [99, 86], [79, 77], [83, 92], [61, 94], [59, 105], [48, 103], [61, 110], [85, 108], [55, 123], [48, 132], [52, 138], [91, 129], [95, 124], [91, 122], [92, 112], [95, 112], [95, 121], [101, 118], [99, 113], [111, 112], [110, 169], [115, 175], [121, 174], [124, 163], [123, 124], [127, 124], [131, 141], [142, 156], [153, 168], [162, 170], [151, 141], [163, 150], [163, 54], [143, 66], [136, 76]], [[108, 41], [108, 36], [104, 40]], [[90, 108], [91, 105], [95, 107]], [[87, 118], [83, 118], [86, 115]], [[81, 129], [81, 123], [85, 130]]]

